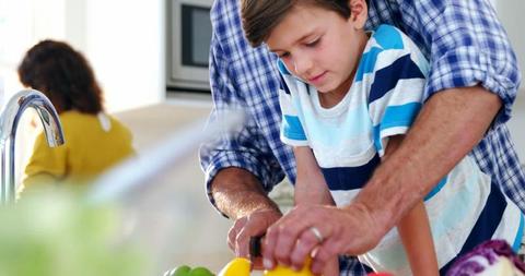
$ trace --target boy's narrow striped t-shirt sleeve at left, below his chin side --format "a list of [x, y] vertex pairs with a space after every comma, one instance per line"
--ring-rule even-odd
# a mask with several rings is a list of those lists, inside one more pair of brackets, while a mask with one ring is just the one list
[[298, 112], [299, 103], [292, 93], [292, 89], [298, 85], [298, 80], [290, 74], [281, 60], [278, 61], [278, 68], [281, 74], [281, 87], [279, 89], [279, 104], [282, 111], [281, 141], [291, 146], [306, 146], [308, 141]]

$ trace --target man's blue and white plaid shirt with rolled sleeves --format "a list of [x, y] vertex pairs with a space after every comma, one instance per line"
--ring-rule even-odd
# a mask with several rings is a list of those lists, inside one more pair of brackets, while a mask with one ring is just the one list
[[[295, 181], [290, 147], [279, 137], [281, 111], [277, 57], [266, 46], [252, 48], [244, 38], [238, 0], [215, 0], [210, 77], [213, 110], [210, 123], [228, 108], [242, 107], [246, 128], [225, 134], [200, 151], [207, 183], [226, 167], [252, 171], [266, 191], [284, 176]], [[425, 96], [453, 87], [481, 84], [495, 93], [503, 108], [485, 139], [470, 153], [481, 169], [525, 211], [525, 176], [505, 122], [520, 86], [516, 57], [489, 0], [370, 0], [366, 28], [388, 23], [404, 31], [431, 61]], [[213, 199], [210, 196], [213, 203]], [[363, 275], [355, 261], [342, 260], [341, 275]]]

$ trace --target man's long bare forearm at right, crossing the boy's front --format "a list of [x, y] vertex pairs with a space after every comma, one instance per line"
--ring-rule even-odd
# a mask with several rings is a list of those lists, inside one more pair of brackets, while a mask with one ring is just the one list
[[501, 100], [482, 87], [447, 89], [423, 106], [399, 148], [354, 201], [384, 235], [483, 137]]

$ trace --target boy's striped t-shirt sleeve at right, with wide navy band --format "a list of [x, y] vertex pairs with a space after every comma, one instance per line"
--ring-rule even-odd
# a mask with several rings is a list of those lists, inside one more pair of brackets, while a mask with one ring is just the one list
[[405, 134], [419, 113], [429, 64], [413, 43], [393, 26], [380, 27], [374, 39], [381, 50], [374, 58], [368, 104], [374, 144], [383, 156], [388, 137]]

